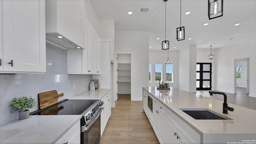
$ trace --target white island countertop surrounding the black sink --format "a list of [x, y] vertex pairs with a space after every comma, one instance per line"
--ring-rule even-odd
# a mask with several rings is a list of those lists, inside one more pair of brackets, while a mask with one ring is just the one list
[[[159, 91], [156, 87], [144, 87], [144, 89], [200, 134], [249, 134], [256, 138], [256, 110], [228, 103], [234, 111], [223, 114], [223, 101], [172, 87], [170, 92]], [[232, 120], [196, 120], [179, 108], [207, 108]]]

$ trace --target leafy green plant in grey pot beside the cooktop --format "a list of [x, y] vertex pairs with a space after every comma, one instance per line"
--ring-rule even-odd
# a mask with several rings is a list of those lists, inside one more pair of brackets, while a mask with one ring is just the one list
[[36, 106], [36, 100], [32, 97], [20, 97], [14, 98], [10, 104], [12, 107], [12, 113], [16, 110], [19, 111], [19, 120], [24, 120], [29, 118], [29, 110], [28, 108], [33, 108]]

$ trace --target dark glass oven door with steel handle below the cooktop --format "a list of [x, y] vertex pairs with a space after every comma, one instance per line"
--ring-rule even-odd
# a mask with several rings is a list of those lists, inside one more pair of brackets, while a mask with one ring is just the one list
[[[100, 143], [100, 108], [94, 120], [87, 126], [84, 126], [84, 132], [81, 131], [81, 144], [99, 144]], [[82, 126], [83, 127], [83, 126]]]

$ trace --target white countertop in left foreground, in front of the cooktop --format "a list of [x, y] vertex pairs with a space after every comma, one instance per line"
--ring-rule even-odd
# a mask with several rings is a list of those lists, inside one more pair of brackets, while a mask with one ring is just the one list
[[82, 115], [33, 115], [0, 126], [0, 144], [54, 144]]

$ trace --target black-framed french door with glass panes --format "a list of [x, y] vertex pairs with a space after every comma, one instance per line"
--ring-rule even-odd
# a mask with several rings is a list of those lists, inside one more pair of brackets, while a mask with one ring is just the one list
[[212, 63], [196, 63], [196, 90], [212, 90]]

